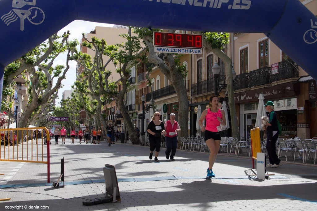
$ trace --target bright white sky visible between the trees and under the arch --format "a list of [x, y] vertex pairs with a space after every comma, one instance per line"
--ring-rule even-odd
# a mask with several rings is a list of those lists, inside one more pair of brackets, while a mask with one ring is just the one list
[[[107, 24], [107, 23], [95, 23], [95, 22], [88, 22], [88, 21], [73, 21], [70, 24], [68, 24], [66, 27], [62, 28], [58, 35], [63, 34], [64, 32], [67, 32], [69, 30], [70, 36], [68, 40], [74, 40], [77, 39], [79, 42], [82, 37], [82, 33], [89, 33], [95, 29], [96, 26], [103, 26], [103, 27], [113, 27], [113, 24]], [[79, 46], [78, 46], [79, 49]], [[66, 56], [67, 53], [60, 54], [55, 60], [54, 60], [54, 66], [55, 65], [66, 65]], [[56, 99], [55, 103], [56, 106], [58, 106], [59, 102], [62, 99], [62, 94], [64, 90], [70, 90], [71, 86], [74, 84], [76, 79], [76, 62], [75, 61], [69, 61], [69, 70], [66, 73], [66, 78], [62, 80], [63, 87], [59, 89], [58, 91], [58, 97], [59, 99]], [[57, 82], [57, 78], [54, 78], [53, 84], [55, 85]]]

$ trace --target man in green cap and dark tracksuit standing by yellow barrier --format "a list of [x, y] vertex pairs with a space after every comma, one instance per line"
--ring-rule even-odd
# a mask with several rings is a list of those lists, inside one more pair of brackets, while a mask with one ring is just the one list
[[276, 168], [281, 166], [283, 163], [278, 158], [275, 149], [275, 143], [278, 138], [279, 129], [278, 129], [278, 120], [277, 115], [274, 111], [274, 104], [272, 101], [268, 101], [265, 105], [265, 109], [268, 111], [268, 123], [267, 127], [264, 128], [266, 130], [267, 139], [266, 139], [266, 150], [268, 151], [268, 158], [270, 163], [266, 165], [266, 167]]

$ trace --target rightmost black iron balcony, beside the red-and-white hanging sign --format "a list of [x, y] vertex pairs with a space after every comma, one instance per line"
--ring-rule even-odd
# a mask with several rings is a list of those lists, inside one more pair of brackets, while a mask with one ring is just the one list
[[288, 78], [298, 78], [298, 65], [292, 59], [278, 63], [278, 72], [270, 73], [269, 83], [280, 81]]

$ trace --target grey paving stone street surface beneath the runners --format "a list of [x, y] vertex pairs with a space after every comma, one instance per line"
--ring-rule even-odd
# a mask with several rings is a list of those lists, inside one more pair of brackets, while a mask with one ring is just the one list
[[[178, 150], [175, 161], [166, 160], [161, 148], [159, 163], [149, 160], [149, 148], [116, 143], [100, 145], [50, 145], [51, 182], [60, 174], [60, 159], [65, 158], [65, 181], [104, 179], [102, 168], [112, 164], [119, 178], [163, 176], [205, 176], [208, 153]], [[0, 162], [1, 169], [8, 162]], [[24, 163], [6, 184], [45, 183], [47, 166]], [[149, 182], [119, 182], [121, 202], [83, 206], [86, 199], [103, 197], [105, 183], [67, 185], [65, 188], [27, 187], [0, 189], [0, 210], [8, 206], [38, 206], [39, 210], [316, 210], [317, 165], [283, 164], [268, 168], [276, 178], [257, 180], [246, 177], [251, 159], [218, 155], [216, 178], [175, 179]], [[1, 182], [1, 177], [0, 177]], [[0, 185], [3, 183], [0, 183]], [[72, 198], [82, 197], [82, 198]], [[64, 198], [64, 199], [62, 199]], [[72, 199], [69, 199], [72, 198]], [[84, 199], [83, 199], [84, 198]], [[65, 200], [68, 199], [68, 200]], [[41, 206], [48, 208], [41, 209]], [[21, 208], [20, 208], [21, 209]]]

